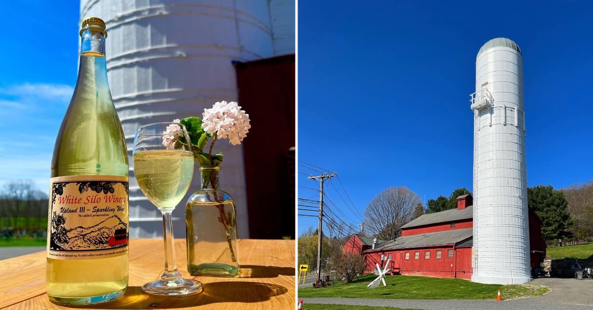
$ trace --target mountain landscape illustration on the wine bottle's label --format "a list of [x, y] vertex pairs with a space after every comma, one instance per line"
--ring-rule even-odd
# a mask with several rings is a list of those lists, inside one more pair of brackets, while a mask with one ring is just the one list
[[[55, 215], [56, 216], [56, 215]], [[58, 234], [53, 236], [54, 234]], [[127, 224], [117, 215], [93, 226], [78, 226], [52, 232], [52, 250], [79, 251], [118, 248], [127, 244]]]

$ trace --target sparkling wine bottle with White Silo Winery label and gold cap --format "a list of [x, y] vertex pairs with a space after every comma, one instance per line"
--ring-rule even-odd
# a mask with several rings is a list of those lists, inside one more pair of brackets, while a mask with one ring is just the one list
[[53, 150], [47, 216], [47, 295], [88, 305], [128, 282], [126, 142], [107, 82], [105, 23], [82, 22], [78, 79]]

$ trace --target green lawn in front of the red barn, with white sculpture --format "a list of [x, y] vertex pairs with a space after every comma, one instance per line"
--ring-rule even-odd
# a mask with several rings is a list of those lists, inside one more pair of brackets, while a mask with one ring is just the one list
[[503, 299], [516, 299], [543, 295], [550, 287], [540, 285], [494, 285], [462, 279], [387, 276], [385, 282], [374, 289], [366, 287], [374, 274], [366, 274], [352, 283], [337, 282], [335, 287], [298, 290], [299, 298], [385, 298], [385, 299], [496, 299], [498, 290]]

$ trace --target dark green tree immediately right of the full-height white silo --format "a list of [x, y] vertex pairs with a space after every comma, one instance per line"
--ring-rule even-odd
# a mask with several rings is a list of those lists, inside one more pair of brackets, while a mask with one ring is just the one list
[[551, 185], [527, 188], [527, 205], [541, 219], [541, 235], [546, 240], [569, 237], [573, 224], [562, 191]]

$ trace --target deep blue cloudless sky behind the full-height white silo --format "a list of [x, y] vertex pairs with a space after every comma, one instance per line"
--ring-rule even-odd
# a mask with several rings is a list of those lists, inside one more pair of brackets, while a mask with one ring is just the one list
[[[361, 214], [390, 186], [426, 200], [471, 190], [476, 54], [508, 37], [524, 57], [528, 186], [592, 180], [591, 3], [299, 1], [298, 158], [336, 171]], [[298, 220], [299, 234], [317, 226]]]

